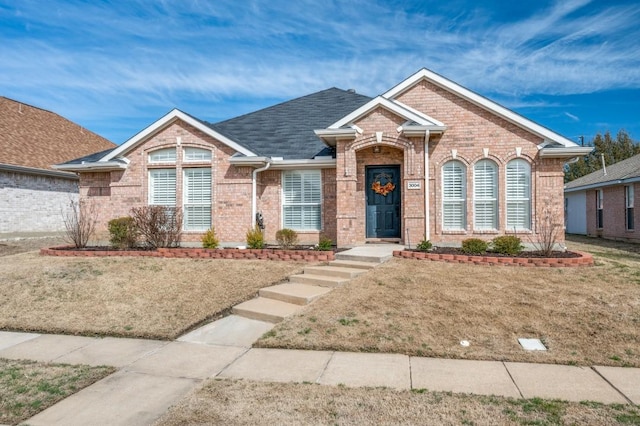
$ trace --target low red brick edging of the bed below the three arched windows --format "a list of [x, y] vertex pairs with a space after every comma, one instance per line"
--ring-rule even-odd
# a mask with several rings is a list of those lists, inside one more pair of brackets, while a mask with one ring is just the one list
[[593, 266], [593, 256], [581, 251], [573, 251], [580, 257], [497, 257], [490, 255], [466, 254], [437, 254], [419, 251], [395, 250], [393, 257], [405, 259], [432, 260], [449, 263], [468, 263], [473, 265], [507, 265], [507, 266], [537, 266], [537, 267], [578, 267]]

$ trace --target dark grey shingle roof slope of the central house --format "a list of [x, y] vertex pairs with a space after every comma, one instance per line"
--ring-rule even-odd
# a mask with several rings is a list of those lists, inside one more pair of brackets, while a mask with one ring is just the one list
[[331, 88], [209, 126], [259, 156], [312, 159], [329, 155], [314, 133], [371, 100]]

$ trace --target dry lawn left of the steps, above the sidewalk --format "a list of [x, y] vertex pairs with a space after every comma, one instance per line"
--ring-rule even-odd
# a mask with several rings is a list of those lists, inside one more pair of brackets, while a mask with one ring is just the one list
[[0, 329], [173, 339], [302, 263], [160, 258], [0, 261]]

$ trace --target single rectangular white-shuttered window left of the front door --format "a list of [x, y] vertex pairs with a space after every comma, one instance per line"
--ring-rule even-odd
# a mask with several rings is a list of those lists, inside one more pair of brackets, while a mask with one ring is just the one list
[[292, 170], [282, 174], [282, 226], [294, 230], [321, 229], [320, 170]]

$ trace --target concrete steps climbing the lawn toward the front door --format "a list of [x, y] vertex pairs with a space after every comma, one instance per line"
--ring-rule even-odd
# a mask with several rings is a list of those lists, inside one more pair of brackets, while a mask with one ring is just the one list
[[368, 256], [364, 261], [349, 260], [353, 258], [351, 255], [345, 257], [341, 258], [338, 253], [338, 260], [328, 266], [308, 266], [303, 274], [290, 276], [288, 283], [262, 288], [258, 297], [234, 306], [231, 311], [245, 318], [278, 323], [387, 260], [386, 256]]

